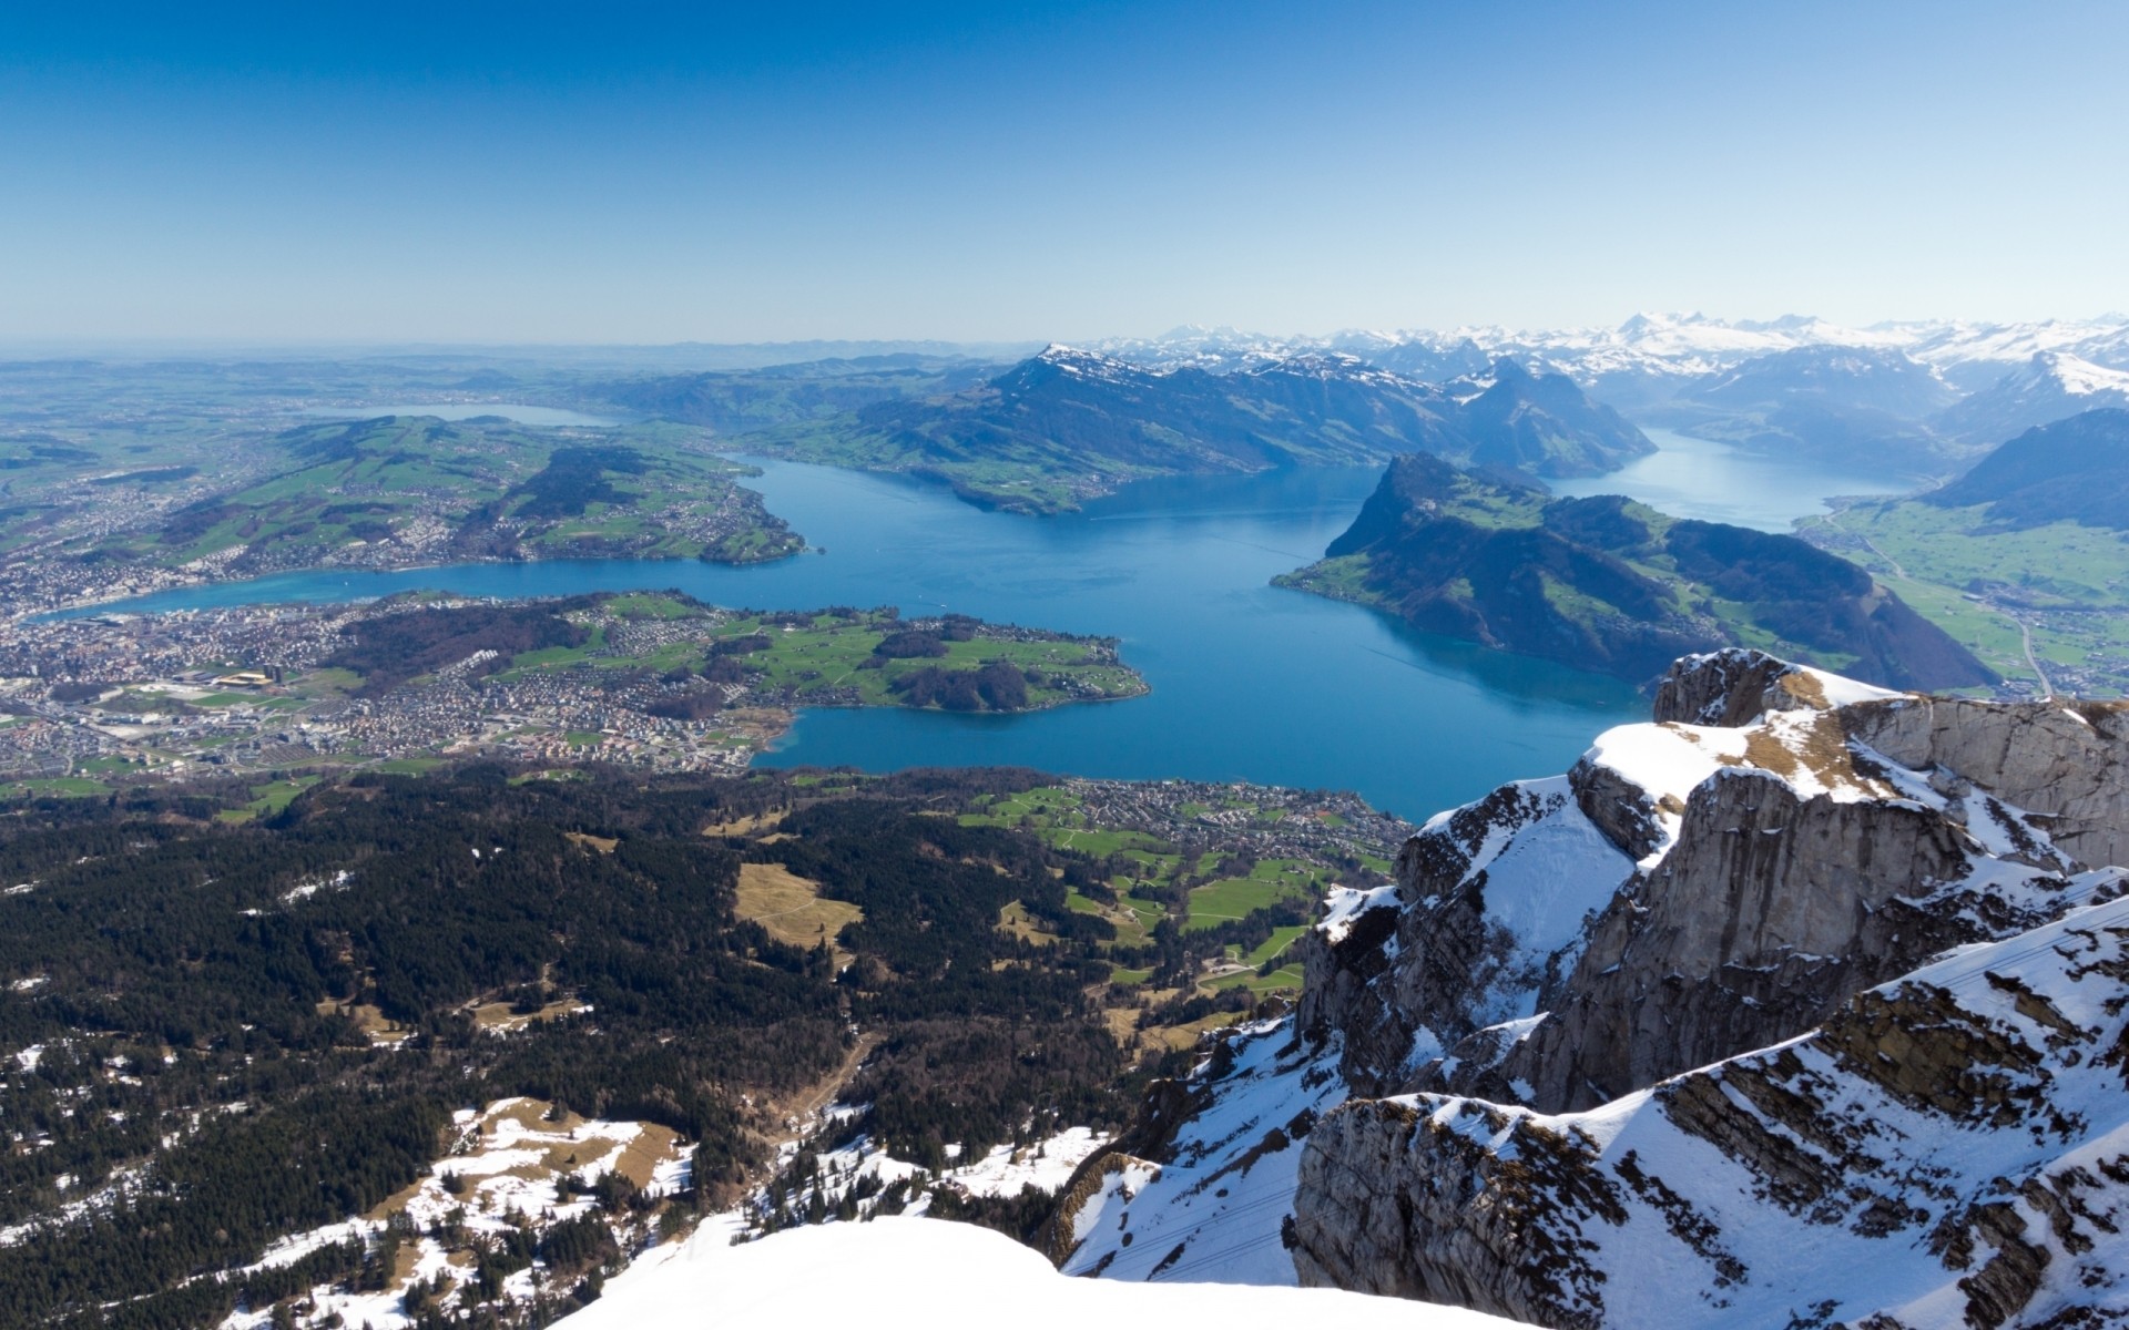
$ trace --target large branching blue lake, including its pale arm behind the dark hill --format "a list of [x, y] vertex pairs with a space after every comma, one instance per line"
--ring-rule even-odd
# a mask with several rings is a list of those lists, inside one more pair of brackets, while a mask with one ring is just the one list
[[[1769, 479], [1763, 460], [1722, 445], [1658, 443], [1665, 453], [1588, 492], [1627, 492], [1684, 515], [1727, 513], [1754, 526], [1786, 526], [1825, 494], [1848, 492], [1825, 489], [1846, 483], [1825, 472], [1790, 468]], [[1669, 462], [1654, 466], [1665, 455]], [[1377, 481], [1375, 468], [1145, 481], [1084, 513], [1016, 517], [898, 477], [760, 466], [762, 477], [749, 483], [820, 551], [745, 568], [571, 560], [292, 572], [168, 592], [126, 609], [351, 600], [413, 587], [477, 596], [679, 587], [730, 606], [898, 604], [909, 615], [958, 611], [1111, 634], [1145, 675], [1150, 696], [1005, 717], [805, 711], [758, 764], [1020, 764], [1090, 777], [1339, 787], [1405, 817], [1507, 779], [1556, 775], [1599, 730], [1648, 713], [1616, 679], [1271, 587], [1273, 575], [1320, 558], [1346, 530]]]

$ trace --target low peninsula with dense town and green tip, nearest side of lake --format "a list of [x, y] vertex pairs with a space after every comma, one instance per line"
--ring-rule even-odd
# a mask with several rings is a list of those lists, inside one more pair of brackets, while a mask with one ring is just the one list
[[34, 770], [0, 770], [15, 794], [445, 755], [720, 770], [801, 706], [1018, 713], [1148, 692], [1116, 638], [894, 606], [735, 611], [681, 592], [409, 592], [19, 628], [0, 647], [6, 726], [34, 753]]

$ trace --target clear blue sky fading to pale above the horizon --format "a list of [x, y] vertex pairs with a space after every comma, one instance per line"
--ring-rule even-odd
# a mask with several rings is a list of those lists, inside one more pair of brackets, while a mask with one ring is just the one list
[[0, 6], [17, 343], [2091, 317], [2125, 232], [2118, 0]]

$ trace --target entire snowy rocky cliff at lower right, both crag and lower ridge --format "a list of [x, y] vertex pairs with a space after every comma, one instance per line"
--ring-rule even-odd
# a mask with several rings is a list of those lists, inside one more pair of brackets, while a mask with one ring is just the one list
[[1162, 1087], [1054, 1256], [1548, 1326], [2101, 1324], [2123, 862], [2125, 706], [1688, 658], [1333, 898], [1303, 1007]]

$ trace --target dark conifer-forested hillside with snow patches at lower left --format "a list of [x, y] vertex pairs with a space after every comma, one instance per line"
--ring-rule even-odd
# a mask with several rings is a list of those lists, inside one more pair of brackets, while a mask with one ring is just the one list
[[[1113, 928], [1067, 909], [1094, 860], [926, 815], [1030, 779], [854, 794], [477, 766], [321, 785], [243, 826], [153, 792], [0, 821], [6, 1319], [194, 1326], [317, 1281], [383, 1287], [390, 1253], [364, 1243], [300, 1279], [232, 1270], [387, 1202], [445, 1153], [453, 1109], [507, 1096], [671, 1128], [694, 1173], [660, 1204], [730, 1204], [773, 1104], [860, 1026], [892, 1049], [862, 1090], [877, 1130], [913, 1158], [941, 1132], [981, 1151], [1060, 1111], [1118, 1117], [1124, 1051], [1088, 998]], [[783, 815], [775, 841], [705, 834], [762, 815]], [[739, 909], [743, 860], [860, 921], [779, 941]], [[999, 928], [1007, 904], [1041, 941]], [[505, 1273], [532, 1260], [464, 1243]]]

